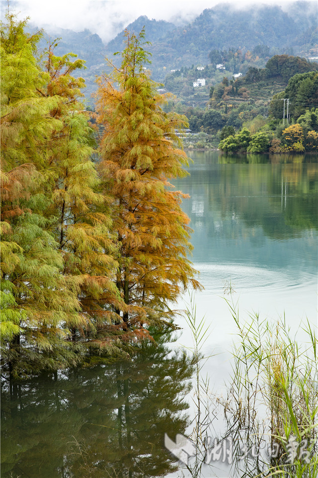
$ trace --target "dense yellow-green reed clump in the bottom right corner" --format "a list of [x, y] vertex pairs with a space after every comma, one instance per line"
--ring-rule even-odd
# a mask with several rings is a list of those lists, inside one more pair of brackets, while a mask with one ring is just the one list
[[[245, 461], [238, 476], [317, 477], [317, 337], [307, 324], [308, 340], [292, 336], [285, 317], [271, 324], [250, 314], [242, 325], [233, 300], [225, 299], [237, 326], [233, 373], [227, 402], [228, 433], [244, 430], [252, 447], [273, 450]], [[302, 453], [303, 452], [303, 453]], [[272, 455], [272, 454], [271, 454]], [[277, 456], [276, 456], [277, 455]], [[257, 458], [257, 460], [256, 460]]]

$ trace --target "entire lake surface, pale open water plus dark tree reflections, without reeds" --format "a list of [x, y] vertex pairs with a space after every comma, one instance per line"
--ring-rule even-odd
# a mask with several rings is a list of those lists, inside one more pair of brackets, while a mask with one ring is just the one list
[[[317, 324], [318, 157], [189, 155], [191, 176], [174, 185], [191, 196], [183, 209], [204, 286], [194, 302], [213, 355], [204, 371], [222, 388], [236, 331], [227, 284], [242, 321], [254, 311], [273, 322], [285, 314], [294, 332], [306, 317]], [[1, 477], [181, 476], [163, 445], [164, 433], [189, 430], [193, 413], [193, 368], [178, 353], [192, 339], [177, 323], [176, 342], [158, 337], [132, 362], [16, 382], [11, 399], [4, 383]]]

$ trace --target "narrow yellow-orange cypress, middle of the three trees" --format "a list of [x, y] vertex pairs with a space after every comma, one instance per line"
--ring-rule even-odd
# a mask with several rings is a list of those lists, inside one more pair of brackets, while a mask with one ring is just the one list
[[[67, 323], [73, 342], [100, 353], [118, 354], [118, 328], [114, 309], [122, 302], [114, 284], [116, 242], [109, 232], [109, 198], [102, 194], [93, 153], [92, 129], [83, 110], [82, 78], [74, 72], [84, 62], [74, 54], [45, 54], [49, 76], [41, 95], [56, 98], [51, 116], [61, 122], [54, 131], [48, 152], [47, 184], [52, 190], [48, 215], [59, 243], [63, 274], [78, 287], [80, 321]], [[117, 345], [116, 345], [117, 344]]]

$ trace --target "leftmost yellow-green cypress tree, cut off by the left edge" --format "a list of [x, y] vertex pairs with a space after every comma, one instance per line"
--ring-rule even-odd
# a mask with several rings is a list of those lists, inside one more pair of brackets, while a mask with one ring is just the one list
[[61, 123], [51, 116], [57, 100], [38, 93], [47, 80], [34, 56], [41, 33], [25, 27], [11, 14], [1, 25], [1, 346], [11, 376], [79, 359], [64, 328], [79, 302], [43, 194], [48, 142]]

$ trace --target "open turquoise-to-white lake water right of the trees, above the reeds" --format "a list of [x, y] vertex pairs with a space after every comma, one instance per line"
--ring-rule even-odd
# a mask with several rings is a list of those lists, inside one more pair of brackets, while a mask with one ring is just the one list
[[[211, 325], [211, 347], [234, 331], [224, 300], [228, 282], [240, 315], [258, 312], [293, 331], [317, 324], [317, 155], [190, 152], [190, 178], [174, 181], [191, 197], [183, 209], [194, 230], [192, 261], [205, 290], [197, 315]], [[183, 341], [189, 337], [183, 334]]]

